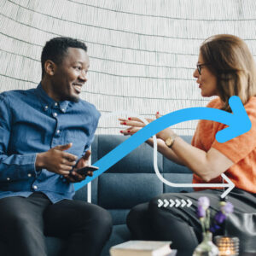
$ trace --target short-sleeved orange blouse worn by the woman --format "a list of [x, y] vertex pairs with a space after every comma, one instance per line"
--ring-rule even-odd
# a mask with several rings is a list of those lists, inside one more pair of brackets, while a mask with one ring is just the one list
[[[220, 99], [213, 99], [209, 102], [207, 108], [221, 108]], [[244, 108], [252, 122], [250, 131], [226, 143], [218, 143], [215, 139], [216, 133], [228, 127], [228, 125], [210, 120], [200, 120], [191, 144], [206, 152], [210, 148], [215, 148], [232, 160], [234, 165], [224, 174], [235, 183], [236, 188], [256, 193], [256, 96], [253, 96]], [[206, 182], [194, 174], [193, 183]], [[222, 183], [222, 177], [216, 177], [208, 183]], [[203, 189], [206, 188], [195, 188], [195, 190]]]

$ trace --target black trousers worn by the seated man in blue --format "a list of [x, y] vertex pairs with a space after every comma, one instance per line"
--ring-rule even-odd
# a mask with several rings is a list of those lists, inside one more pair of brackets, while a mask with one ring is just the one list
[[61, 255], [100, 255], [112, 230], [110, 214], [84, 201], [52, 204], [43, 193], [0, 200], [0, 238], [10, 255], [46, 256], [45, 236], [66, 239]]

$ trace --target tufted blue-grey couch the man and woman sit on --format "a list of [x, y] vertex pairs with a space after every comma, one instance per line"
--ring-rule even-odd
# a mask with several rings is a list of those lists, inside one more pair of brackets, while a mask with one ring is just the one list
[[[121, 135], [96, 136], [91, 147], [92, 164], [125, 139], [127, 137]], [[183, 139], [190, 142], [191, 137], [183, 137]], [[192, 174], [188, 168], [177, 166], [163, 158], [161, 154], [158, 154], [158, 167], [163, 177], [173, 183], [191, 183], [192, 181]], [[109, 248], [113, 245], [131, 239], [131, 233], [125, 224], [125, 218], [131, 207], [149, 201], [162, 193], [192, 191], [192, 189], [169, 187], [160, 182], [154, 173], [153, 150], [146, 143], [94, 179], [91, 187], [92, 203], [104, 207], [113, 217], [113, 232], [103, 248], [102, 256], [109, 255]], [[87, 186], [79, 189], [74, 199], [87, 201]], [[65, 241], [56, 237], [46, 237], [46, 242], [49, 256], [61, 255], [61, 248]], [[0, 243], [0, 255], [9, 255], [8, 248], [3, 243]]]

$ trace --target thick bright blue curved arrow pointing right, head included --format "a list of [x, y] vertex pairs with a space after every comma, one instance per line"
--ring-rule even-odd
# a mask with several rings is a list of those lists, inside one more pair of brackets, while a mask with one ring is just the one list
[[240, 98], [238, 96], [232, 96], [230, 97], [229, 103], [233, 113], [227, 113], [224, 110], [216, 108], [185, 108], [172, 113], [167, 113], [159, 119], [155, 119], [125, 140], [124, 143], [119, 144], [118, 147], [104, 155], [102, 159], [97, 160], [94, 166], [98, 166], [99, 170], [94, 172], [92, 177], [86, 177], [83, 182], [75, 183], [75, 189], [78, 190], [86, 183], [90, 183], [91, 180], [107, 171], [108, 168], [124, 158], [126, 154], [131, 153], [133, 149], [144, 143], [149, 137], [154, 136], [154, 134], [171, 125], [194, 119], [212, 120], [229, 125], [229, 127], [222, 131], [218, 131], [216, 134], [216, 139], [219, 143], [225, 143], [234, 137], [238, 137], [241, 134], [250, 131], [252, 123], [247, 116], [247, 112], [243, 107]]

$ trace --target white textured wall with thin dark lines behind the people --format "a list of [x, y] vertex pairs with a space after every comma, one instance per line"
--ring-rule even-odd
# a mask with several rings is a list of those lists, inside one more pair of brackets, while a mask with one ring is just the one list
[[[37, 86], [40, 54], [56, 36], [89, 47], [82, 98], [105, 113], [153, 117], [205, 106], [192, 73], [202, 41], [213, 34], [243, 38], [256, 55], [255, 0], [0, 0], [0, 92]], [[192, 134], [196, 121], [176, 125]], [[105, 119], [98, 133], [118, 133]]]

